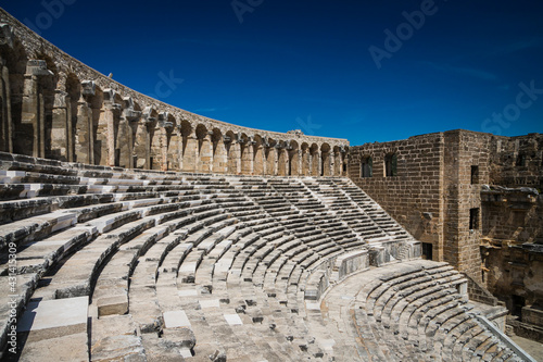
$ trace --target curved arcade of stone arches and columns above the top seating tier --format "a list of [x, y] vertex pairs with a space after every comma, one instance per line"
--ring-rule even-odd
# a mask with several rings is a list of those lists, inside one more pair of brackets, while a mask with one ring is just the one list
[[206, 118], [98, 73], [2, 9], [0, 24], [1, 151], [127, 168], [343, 175], [346, 139]]

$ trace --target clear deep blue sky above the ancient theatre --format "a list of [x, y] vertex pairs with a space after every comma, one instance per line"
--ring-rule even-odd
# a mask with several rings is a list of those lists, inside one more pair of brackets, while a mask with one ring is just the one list
[[[351, 145], [455, 128], [543, 133], [542, 1], [0, 7], [122, 84], [233, 124], [300, 128]], [[171, 87], [164, 77], [173, 77]]]

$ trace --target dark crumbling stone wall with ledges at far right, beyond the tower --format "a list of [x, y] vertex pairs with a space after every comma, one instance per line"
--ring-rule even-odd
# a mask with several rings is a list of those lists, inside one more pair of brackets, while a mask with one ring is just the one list
[[543, 136], [493, 137], [491, 150], [490, 184], [503, 187], [481, 194], [487, 286], [543, 327]]

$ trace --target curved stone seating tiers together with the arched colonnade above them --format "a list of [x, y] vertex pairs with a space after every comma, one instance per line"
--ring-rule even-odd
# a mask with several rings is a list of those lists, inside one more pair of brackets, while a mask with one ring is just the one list
[[525, 359], [346, 140], [173, 108], [0, 15], [3, 360]]

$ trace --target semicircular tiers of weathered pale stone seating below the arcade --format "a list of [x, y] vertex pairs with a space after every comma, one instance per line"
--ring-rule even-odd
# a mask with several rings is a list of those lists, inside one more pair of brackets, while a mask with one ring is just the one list
[[0, 161], [8, 360], [14, 320], [21, 361], [515, 358], [348, 178]]

